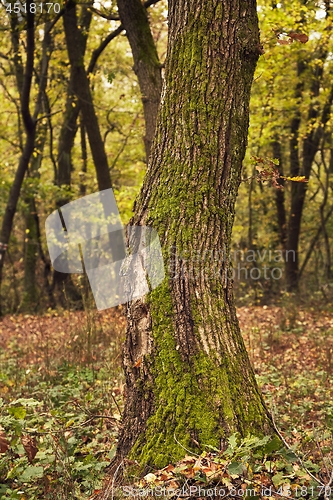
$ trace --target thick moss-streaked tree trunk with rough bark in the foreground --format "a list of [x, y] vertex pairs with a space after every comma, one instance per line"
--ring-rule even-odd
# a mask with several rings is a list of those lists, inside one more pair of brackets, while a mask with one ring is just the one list
[[128, 307], [118, 457], [163, 466], [271, 422], [228, 273], [249, 98], [255, 0], [170, 0], [166, 87], [133, 224], [159, 233], [166, 278]]

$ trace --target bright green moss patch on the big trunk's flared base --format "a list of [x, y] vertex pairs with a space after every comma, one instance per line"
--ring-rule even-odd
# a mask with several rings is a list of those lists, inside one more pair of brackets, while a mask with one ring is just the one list
[[149, 305], [156, 353], [145, 363], [154, 378], [155, 411], [130, 457], [143, 467], [164, 467], [184, 456], [184, 450], [219, 448], [233, 432], [258, 434], [265, 424], [260, 396], [244, 402], [239, 393], [242, 373], [237, 379], [227, 356], [218, 360], [217, 353], [201, 351], [190, 363], [181, 359], [167, 281], [150, 294]]

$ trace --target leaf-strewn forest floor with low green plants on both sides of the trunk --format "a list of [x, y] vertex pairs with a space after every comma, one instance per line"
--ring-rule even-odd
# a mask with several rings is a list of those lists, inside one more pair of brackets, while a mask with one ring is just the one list
[[[266, 457], [253, 474], [277, 489], [286, 488], [290, 477], [297, 485], [292, 498], [320, 498], [320, 482], [327, 484], [333, 469], [333, 311], [290, 304], [240, 307], [238, 316], [258, 384], [293, 463], [286, 465], [286, 457], [280, 462]], [[94, 498], [115, 453], [123, 403], [124, 331], [120, 307], [0, 320], [0, 499]], [[236, 482], [243, 477], [245, 458], [249, 460], [237, 451], [239, 446], [251, 454], [259, 445], [239, 445], [232, 438], [228, 473]], [[300, 461], [296, 464], [295, 453], [302, 457], [303, 468]], [[174, 467], [155, 471], [140, 485], [152, 480], [155, 486], [175, 483], [175, 470], [186, 481], [198, 473], [207, 480], [209, 471], [219, 470], [212, 457], [200, 460], [187, 457], [180, 472]], [[226, 462], [219, 463], [225, 471]], [[319, 481], [316, 491], [312, 475]], [[243, 478], [239, 487], [245, 483]], [[288, 496], [280, 490], [276, 498], [283, 494]]]

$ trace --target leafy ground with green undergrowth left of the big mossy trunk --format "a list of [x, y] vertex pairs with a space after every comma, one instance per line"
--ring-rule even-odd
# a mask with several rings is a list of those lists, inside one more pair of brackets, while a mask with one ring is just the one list
[[57, 349], [49, 341], [47, 356], [32, 335], [2, 349], [1, 500], [83, 500], [102, 486], [122, 411], [121, 338], [88, 326]]

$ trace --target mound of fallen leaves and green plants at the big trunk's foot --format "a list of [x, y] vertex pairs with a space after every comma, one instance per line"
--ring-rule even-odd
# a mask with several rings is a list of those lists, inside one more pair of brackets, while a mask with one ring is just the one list
[[117, 498], [320, 499], [331, 491], [329, 475], [309, 457], [303, 459], [297, 444], [285, 445], [276, 435], [240, 439], [233, 434], [222, 450], [207, 446], [200, 455], [188, 454], [124, 483], [113, 491]]

